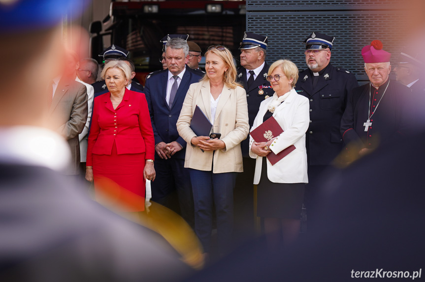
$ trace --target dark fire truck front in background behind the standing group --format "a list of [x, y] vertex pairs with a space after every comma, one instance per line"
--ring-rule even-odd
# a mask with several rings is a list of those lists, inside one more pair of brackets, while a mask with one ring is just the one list
[[103, 50], [103, 38], [110, 35], [110, 44], [130, 51], [136, 77], [144, 84], [148, 73], [162, 69], [160, 40], [167, 34], [189, 34], [189, 41], [196, 42], [203, 52], [210, 45], [225, 45], [237, 59], [245, 15], [244, 0], [113, 1], [103, 20], [110, 26], [102, 30], [100, 21], [91, 24], [91, 56], [101, 63], [98, 54]]

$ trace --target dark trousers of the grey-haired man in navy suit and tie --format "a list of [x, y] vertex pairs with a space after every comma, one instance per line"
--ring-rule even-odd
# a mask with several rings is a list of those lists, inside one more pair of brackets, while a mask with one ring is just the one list
[[[189, 169], [185, 160], [155, 159], [155, 181], [151, 182], [152, 200], [177, 213], [191, 226], [194, 221], [194, 200]], [[178, 207], [176, 208], [176, 205]]]

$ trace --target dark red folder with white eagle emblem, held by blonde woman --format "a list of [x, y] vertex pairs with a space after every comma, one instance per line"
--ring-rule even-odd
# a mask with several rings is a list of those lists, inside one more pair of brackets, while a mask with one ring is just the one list
[[[282, 132], [282, 127], [280, 127], [279, 123], [277, 123], [276, 119], [274, 119], [274, 117], [272, 116], [266, 121], [264, 121], [259, 127], [251, 131], [250, 134], [256, 142], [267, 142], [270, 141], [272, 138], [279, 136]], [[268, 153], [267, 159], [273, 166], [294, 150], [295, 146], [291, 145], [288, 148], [285, 148], [280, 151], [277, 155], [273, 152]]]

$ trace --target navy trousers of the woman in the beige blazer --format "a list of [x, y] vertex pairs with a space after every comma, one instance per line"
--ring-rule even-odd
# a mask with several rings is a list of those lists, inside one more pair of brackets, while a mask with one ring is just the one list
[[211, 252], [213, 205], [220, 254], [229, 252], [233, 230], [233, 188], [237, 172], [213, 173], [189, 169], [195, 203], [195, 232], [204, 252]]

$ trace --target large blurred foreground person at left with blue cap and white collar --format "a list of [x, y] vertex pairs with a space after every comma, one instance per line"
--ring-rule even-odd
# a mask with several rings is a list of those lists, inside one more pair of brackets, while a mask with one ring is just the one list
[[7, 80], [0, 89], [0, 281], [178, 280], [190, 270], [157, 234], [61, 175], [71, 154], [46, 129], [46, 88], [65, 56], [67, 7], [83, 9], [75, 0], [0, 3], [0, 52], [9, 55], [0, 68]]

